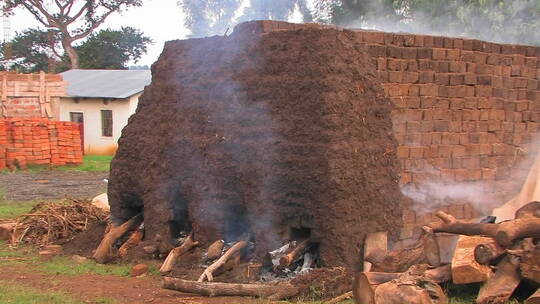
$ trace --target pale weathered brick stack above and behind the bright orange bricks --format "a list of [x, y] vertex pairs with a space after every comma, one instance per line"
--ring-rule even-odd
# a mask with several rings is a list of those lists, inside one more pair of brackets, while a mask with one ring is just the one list
[[0, 118], [58, 119], [59, 98], [66, 84], [58, 74], [0, 72]]

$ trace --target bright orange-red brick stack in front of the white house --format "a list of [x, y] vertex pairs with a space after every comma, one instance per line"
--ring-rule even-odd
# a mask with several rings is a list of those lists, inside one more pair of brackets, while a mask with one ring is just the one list
[[0, 170], [82, 162], [79, 124], [48, 119], [0, 120]]

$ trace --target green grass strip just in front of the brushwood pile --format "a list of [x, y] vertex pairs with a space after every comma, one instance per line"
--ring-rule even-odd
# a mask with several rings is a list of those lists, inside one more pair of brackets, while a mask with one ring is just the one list
[[131, 270], [131, 267], [129, 265], [103, 265], [97, 264], [92, 260], [77, 264], [72, 261], [71, 258], [62, 256], [55, 257], [50, 261], [40, 263], [38, 265], [38, 268], [45, 273], [73, 276], [84, 274], [98, 274], [127, 277], [129, 276], [129, 271]]

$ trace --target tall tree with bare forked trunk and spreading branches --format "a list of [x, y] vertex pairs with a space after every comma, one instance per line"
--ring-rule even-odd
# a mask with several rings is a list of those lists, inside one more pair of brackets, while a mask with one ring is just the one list
[[5, 0], [6, 11], [23, 7], [48, 29], [56, 29], [71, 67], [79, 67], [73, 43], [96, 30], [114, 12], [141, 6], [142, 0], [54, 0], [48, 7], [43, 0]]

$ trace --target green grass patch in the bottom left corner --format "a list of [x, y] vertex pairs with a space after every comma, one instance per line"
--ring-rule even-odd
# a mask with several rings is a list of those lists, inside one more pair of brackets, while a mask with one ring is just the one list
[[[0, 281], [0, 303], [3, 304], [83, 304], [62, 292], [38, 291]], [[99, 302], [98, 302], [99, 303]], [[101, 302], [114, 303], [114, 302]]]

